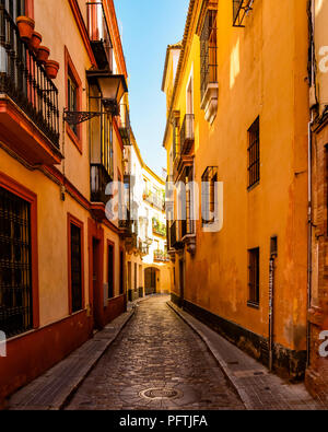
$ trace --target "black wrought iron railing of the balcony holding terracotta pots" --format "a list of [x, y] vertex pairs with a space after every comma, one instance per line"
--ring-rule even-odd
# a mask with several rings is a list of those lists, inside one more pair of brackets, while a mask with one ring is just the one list
[[58, 89], [0, 4], [0, 93], [7, 94], [59, 149]]

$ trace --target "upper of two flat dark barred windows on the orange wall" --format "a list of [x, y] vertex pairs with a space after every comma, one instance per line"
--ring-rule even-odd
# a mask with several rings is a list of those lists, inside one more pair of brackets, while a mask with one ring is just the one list
[[259, 117], [248, 129], [248, 189], [260, 180]]

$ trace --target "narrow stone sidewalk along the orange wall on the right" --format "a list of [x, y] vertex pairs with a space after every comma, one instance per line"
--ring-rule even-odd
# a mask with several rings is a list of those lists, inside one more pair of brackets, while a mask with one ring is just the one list
[[[237, 347], [226, 341], [192, 315], [177, 307], [173, 302], [167, 302], [167, 305], [203, 340], [209, 351], [221, 366], [226, 378], [239, 395], [246, 409], [254, 410], [259, 408], [259, 404], [256, 402], [256, 398], [254, 398], [255, 393], [266, 395], [266, 402], [263, 402], [263, 405], [266, 404], [267, 406], [263, 406], [262, 409], [270, 407], [273, 409], [277, 407], [278, 409], [279, 406], [281, 406], [281, 397], [283, 397], [284, 408], [288, 404], [294, 402], [296, 398], [297, 404], [300, 405], [298, 409], [308, 409], [309, 407], [315, 407], [316, 409], [328, 409], [328, 406], [324, 407], [321, 404], [317, 404], [306, 392], [305, 386], [302, 386], [301, 389], [300, 386], [296, 388], [293, 384], [286, 384], [282, 378], [270, 373], [261, 363], [258, 363], [256, 360], [241, 351]], [[215, 341], [210, 340], [211, 336], [218, 339], [218, 345], [215, 345]], [[220, 345], [222, 343], [227, 350], [231, 350], [231, 352], [225, 353], [226, 357], [236, 358], [238, 360], [238, 370], [236, 370], [236, 365], [234, 364], [235, 362], [232, 362], [232, 367], [230, 366], [230, 362], [224, 360], [220, 352]], [[279, 395], [274, 397], [273, 393], [267, 392], [269, 389], [268, 387], [272, 390], [280, 388]], [[270, 393], [272, 398], [270, 398]], [[281, 408], [283, 407], [281, 406]]]

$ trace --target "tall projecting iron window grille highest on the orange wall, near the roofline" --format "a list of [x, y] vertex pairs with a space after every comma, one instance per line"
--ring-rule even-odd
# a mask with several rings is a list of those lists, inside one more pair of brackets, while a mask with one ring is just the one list
[[209, 10], [200, 35], [200, 92], [203, 100], [208, 85], [218, 82], [216, 11]]

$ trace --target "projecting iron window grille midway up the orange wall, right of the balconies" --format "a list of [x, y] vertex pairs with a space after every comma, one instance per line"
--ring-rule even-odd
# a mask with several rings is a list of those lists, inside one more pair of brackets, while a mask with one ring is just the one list
[[216, 182], [218, 182], [218, 167], [208, 166], [201, 177], [202, 225], [209, 225], [215, 222]]

